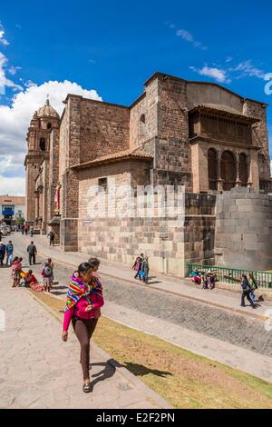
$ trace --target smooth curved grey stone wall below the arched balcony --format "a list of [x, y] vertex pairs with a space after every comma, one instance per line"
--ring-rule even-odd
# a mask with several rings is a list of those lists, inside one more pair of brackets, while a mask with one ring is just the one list
[[272, 197], [234, 188], [218, 194], [215, 262], [234, 268], [272, 269]]

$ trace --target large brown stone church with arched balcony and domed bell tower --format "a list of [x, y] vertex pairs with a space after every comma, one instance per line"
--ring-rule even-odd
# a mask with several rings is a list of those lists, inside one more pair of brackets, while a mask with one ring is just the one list
[[[267, 104], [161, 73], [130, 106], [75, 94], [63, 104], [60, 117], [47, 100], [28, 129], [27, 222], [41, 233], [53, 228], [64, 251], [128, 264], [144, 252], [163, 273], [182, 276], [189, 262], [246, 268], [254, 259], [254, 268], [268, 268]], [[135, 189], [184, 185], [184, 224], [114, 215], [90, 221], [88, 189], [107, 192], [113, 177]]]

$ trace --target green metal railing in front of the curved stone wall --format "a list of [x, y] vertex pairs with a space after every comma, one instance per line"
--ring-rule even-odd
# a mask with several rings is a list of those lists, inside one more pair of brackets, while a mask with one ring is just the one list
[[242, 274], [253, 274], [257, 285], [263, 288], [272, 288], [272, 272], [265, 272], [262, 270], [244, 270], [237, 268], [229, 268], [229, 267], [219, 267], [217, 265], [202, 265], [200, 263], [188, 263], [189, 273], [191, 273], [196, 268], [199, 272], [203, 273], [216, 273], [217, 281], [223, 283], [237, 283], [241, 282]]

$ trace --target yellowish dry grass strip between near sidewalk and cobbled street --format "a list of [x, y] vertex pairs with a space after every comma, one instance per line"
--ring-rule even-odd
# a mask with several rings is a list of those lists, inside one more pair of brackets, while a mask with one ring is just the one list
[[[62, 300], [34, 294], [57, 313], [63, 310]], [[272, 408], [271, 383], [106, 317], [93, 341], [175, 408]]]

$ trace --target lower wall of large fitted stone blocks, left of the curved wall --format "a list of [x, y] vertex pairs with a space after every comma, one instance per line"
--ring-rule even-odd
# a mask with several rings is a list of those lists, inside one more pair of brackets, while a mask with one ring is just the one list
[[149, 256], [151, 271], [184, 277], [187, 263], [214, 263], [215, 196], [184, 194], [185, 214], [174, 217], [79, 219], [79, 250], [131, 265]]

